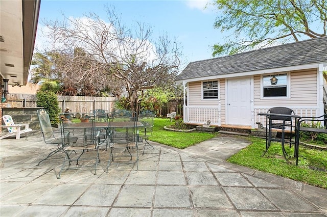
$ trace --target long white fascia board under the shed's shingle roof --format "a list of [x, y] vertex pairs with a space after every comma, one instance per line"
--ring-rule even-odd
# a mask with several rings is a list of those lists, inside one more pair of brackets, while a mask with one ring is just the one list
[[221, 78], [231, 78], [231, 77], [243, 77], [243, 76], [249, 76], [249, 75], [271, 74], [271, 73], [295, 71], [295, 70], [303, 70], [303, 69], [314, 69], [314, 68], [319, 68], [320, 64], [323, 64], [324, 67], [327, 67], [327, 63], [316, 63], [316, 64], [289, 66], [289, 67], [264, 69], [264, 70], [248, 71], [248, 72], [219, 74], [219, 75], [206, 76], [206, 77], [195, 77], [195, 78], [189, 78], [189, 79], [183, 79], [183, 80], [176, 80], [176, 83], [199, 82], [201, 80], [211, 80], [211, 79], [221, 79]]

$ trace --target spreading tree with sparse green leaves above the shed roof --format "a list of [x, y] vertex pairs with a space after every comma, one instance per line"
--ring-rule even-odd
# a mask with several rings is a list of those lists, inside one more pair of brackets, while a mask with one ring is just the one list
[[214, 27], [233, 32], [213, 56], [326, 36], [326, 0], [215, 0]]

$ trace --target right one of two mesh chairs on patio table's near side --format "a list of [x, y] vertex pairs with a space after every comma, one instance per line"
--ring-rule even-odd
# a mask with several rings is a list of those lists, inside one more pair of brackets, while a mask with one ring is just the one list
[[136, 117], [135, 112], [130, 112], [127, 116], [120, 112], [108, 113], [108, 127], [111, 134], [106, 173], [112, 164], [136, 163], [136, 170], [138, 170], [137, 121], [134, 117]]

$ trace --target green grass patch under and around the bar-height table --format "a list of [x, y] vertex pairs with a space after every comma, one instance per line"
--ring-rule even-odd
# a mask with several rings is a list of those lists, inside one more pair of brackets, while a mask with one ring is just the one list
[[[296, 166], [294, 157], [290, 157], [289, 162], [284, 159], [281, 143], [272, 142], [268, 152], [262, 157], [266, 141], [255, 137], [250, 137], [249, 140], [251, 145], [227, 161], [327, 189], [327, 172], [309, 169], [310, 166], [327, 169], [326, 151], [300, 146], [299, 165]], [[285, 148], [289, 156], [294, 156], [294, 148]]]

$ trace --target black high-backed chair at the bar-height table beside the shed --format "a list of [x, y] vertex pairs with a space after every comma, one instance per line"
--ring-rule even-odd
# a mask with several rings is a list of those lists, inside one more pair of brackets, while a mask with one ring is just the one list
[[[268, 133], [268, 135], [266, 136], [266, 138], [268, 139], [268, 141], [266, 141], [266, 151], [264, 152], [264, 154], [268, 151], [268, 148], [270, 147], [271, 141], [277, 141], [277, 142], [281, 142], [282, 143], [282, 150], [283, 150], [283, 155], [286, 158], [286, 150], [284, 147], [284, 143], [289, 143], [290, 144], [290, 148], [292, 144], [296, 144], [296, 141], [292, 140], [293, 135], [293, 129], [295, 129], [296, 127], [296, 121], [295, 123], [293, 123], [293, 119], [292, 117], [288, 116], [288, 115], [295, 115], [294, 111], [291, 108], [288, 107], [272, 107], [268, 110], [268, 113], [271, 114], [277, 114], [277, 115], [270, 115], [267, 116], [267, 127], [268, 127], [268, 132], [266, 131], [266, 134]], [[281, 116], [279, 116], [281, 115]], [[283, 116], [286, 115], [286, 116]], [[285, 138], [285, 129], [288, 128], [289, 129], [289, 133], [288, 133], [288, 138]], [[282, 130], [282, 135], [281, 138], [273, 138], [272, 137], [272, 130], [273, 129], [279, 129]], [[263, 154], [263, 155], [264, 155]]]

